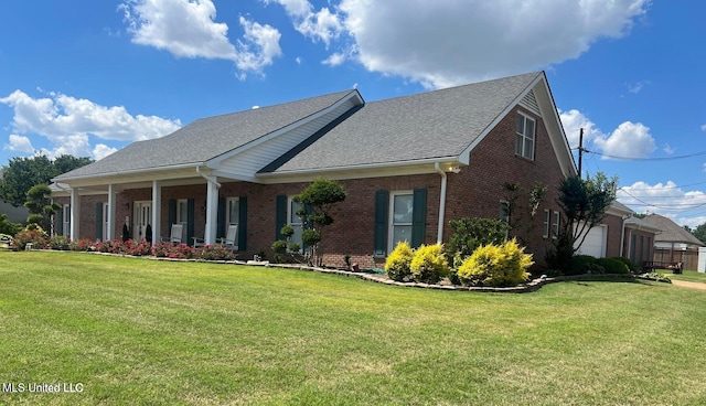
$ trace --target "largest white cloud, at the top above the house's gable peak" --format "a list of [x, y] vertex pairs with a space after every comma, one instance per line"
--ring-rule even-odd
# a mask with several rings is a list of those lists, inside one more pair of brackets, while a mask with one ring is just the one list
[[576, 58], [600, 39], [625, 35], [649, 3], [341, 0], [338, 11], [368, 71], [446, 87]]

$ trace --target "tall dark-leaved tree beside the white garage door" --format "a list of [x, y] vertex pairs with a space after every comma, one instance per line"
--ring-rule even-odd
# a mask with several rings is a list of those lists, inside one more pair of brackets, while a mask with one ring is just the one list
[[606, 211], [616, 200], [618, 178], [608, 179], [598, 172], [595, 178], [579, 175], [565, 178], [559, 184], [557, 203], [561, 207], [561, 225], [554, 242], [554, 252], [547, 256], [549, 266], [567, 269], [571, 257], [581, 247], [588, 232], [599, 225]]

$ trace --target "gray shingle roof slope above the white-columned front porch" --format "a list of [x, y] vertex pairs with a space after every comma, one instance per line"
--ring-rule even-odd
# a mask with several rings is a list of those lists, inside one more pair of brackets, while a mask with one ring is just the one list
[[169, 136], [133, 142], [55, 180], [205, 162], [323, 110], [351, 92], [355, 90], [202, 118]]

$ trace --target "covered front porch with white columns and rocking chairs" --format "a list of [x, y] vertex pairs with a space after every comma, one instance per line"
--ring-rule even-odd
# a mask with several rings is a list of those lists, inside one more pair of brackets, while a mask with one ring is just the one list
[[200, 167], [172, 169], [152, 180], [126, 174], [106, 178], [105, 183], [92, 179], [55, 184], [55, 201], [64, 204], [62, 234], [74, 241], [93, 235], [117, 239], [127, 225], [130, 238], [157, 243], [169, 238], [172, 224], [183, 224], [182, 243], [193, 245], [197, 238], [211, 245], [225, 236], [227, 224], [244, 217], [239, 205], [246, 200], [220, 196], [222, 184]]

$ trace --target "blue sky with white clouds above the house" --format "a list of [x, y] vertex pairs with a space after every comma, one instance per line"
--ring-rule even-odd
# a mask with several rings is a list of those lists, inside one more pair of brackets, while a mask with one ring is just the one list
[[[366, 100], [545, 70], [585, 172], [706, 223], [706, 3], [121, 0], [0, 3], [0, 164], [99, 159], [194, 119], [357, 87]], [[618, 158], [616, 158], [618, 157]]]

